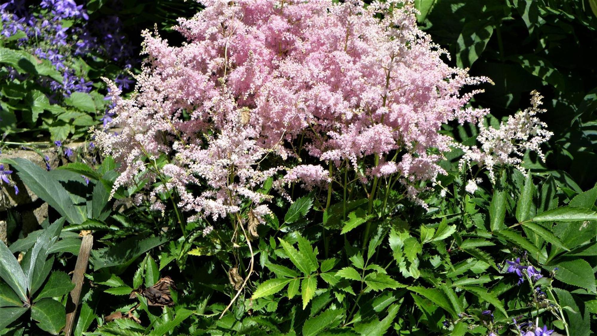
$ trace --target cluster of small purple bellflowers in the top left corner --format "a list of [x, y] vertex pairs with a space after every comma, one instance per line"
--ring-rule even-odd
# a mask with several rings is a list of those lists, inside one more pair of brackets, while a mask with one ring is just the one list
[[[64, 27], [63, 20], [73, 20], [75, 24]], [[102, 17], [93, 23], [88, 20], [84, 5], [78, 5], [75, 0], [41, 0], [38, 6], [30, 6], [24, 0], [0, 2], [0, 35], [3, 38], [14, 36], [18, 48], [50, 61], [62, 74], [62, 83], [46, 78], [38, 82], [64, 97], [73, 92], [90, 92], [93, 88], [93, 82], [77, 73], [75, 56], [93, 54], [93, 57], [97, 55], [131, 68], [133, 49], [119, 33], [122, 27], [119, 18]], [[9, 74], [10, 79], [23, 80], [14, 72]], [[126, 74], [118, 79], [124, 89], [132, 83]], [[59, 100], [49, 98], [51, 102]]]

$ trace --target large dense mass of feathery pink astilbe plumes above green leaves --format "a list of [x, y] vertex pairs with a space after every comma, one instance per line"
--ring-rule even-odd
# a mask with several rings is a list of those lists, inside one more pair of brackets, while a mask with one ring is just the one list
[[[416, 197], [420, 181], [445, 173], [441, 153], [455, 145], [441, 125], [488, 113], [465, 108], [479, 90], [460, 92], [490, 80], [441, 60], [411, 0], [202, 2], [205, 10], [175, 27], [182, 46], [143, 33], [147, 58], [130, 99], [110, 84], [106, 126], [122, 132], [95, 135], [122, 163], [115, 188], [143, 174], [165, 177], [152, 192], [176, 190], [179, 206], [198, 216], [235, 213], [242, 200], [265, 207], [269, 197], [256, 189], [282, 170], [278, 186], [328, 183], [318, 165], [262, 168], [268, 155], [296, 157], [300, 138], [323, 167], [347, 162], [357, 171], [359, 160], [376, 157], [362, 178], [400, 174]], [[170, 164], [154, 166], [161, 155]]]

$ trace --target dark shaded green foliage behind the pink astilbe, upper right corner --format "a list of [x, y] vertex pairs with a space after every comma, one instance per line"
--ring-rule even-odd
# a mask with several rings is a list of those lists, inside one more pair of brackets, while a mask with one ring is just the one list
[[416, 1], [421, 27], [450, 52], [447, 61], [496, 83], [476, 95], [476, 104], [501, 118], [524, 108], [530, 91], [544, 95], [541, 119], [555, 135], [547, 163], [527, 164], [568, 173], [581, 189], [597, 181], [597, 5], [592, 10], [591, 1]]

